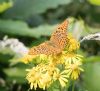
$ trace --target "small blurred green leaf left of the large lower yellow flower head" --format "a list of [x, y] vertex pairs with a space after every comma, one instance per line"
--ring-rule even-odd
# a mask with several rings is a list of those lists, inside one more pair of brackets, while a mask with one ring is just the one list
[[17, 83], [25, 83], [25, 76], [26, 76], [26, 71], [25, 68], [8, 68], [4, 69], [4, 73], [7, 75], [6, 80], [11, 82], [15, 80]]

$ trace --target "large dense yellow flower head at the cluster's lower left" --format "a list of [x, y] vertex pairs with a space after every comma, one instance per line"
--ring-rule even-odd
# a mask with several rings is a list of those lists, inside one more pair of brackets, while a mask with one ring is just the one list
[[30, 88], [33, 89], [34, 87], [34, 89], [36, 89], [37, 86], [39, 86], [40, 88], [45, 89], [46, 87], [49, 87], [52, 83], [52, 77], [49, 70], [49, 66], [44, 64], [39, 64], [32, 69], [28, 69], [26, 79], [30, 84]]

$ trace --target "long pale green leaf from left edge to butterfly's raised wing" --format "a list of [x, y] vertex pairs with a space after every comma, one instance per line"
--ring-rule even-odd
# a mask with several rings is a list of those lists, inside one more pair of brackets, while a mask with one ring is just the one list
[[41, 25], [36, 28], [29, 28], [25, 22], [0, 20], [0, 32], [6, 34], [28, 36], [39, 38], [42, 35], [49, 36], [56, 26]]

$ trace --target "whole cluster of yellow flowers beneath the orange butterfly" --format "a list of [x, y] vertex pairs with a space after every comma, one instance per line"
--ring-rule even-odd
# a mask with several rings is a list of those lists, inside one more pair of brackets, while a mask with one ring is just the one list
[[76, 53], [80, 45], [70, 34], [67, 38], [67, 45], [59, 55], [26, 55], [23, 58], [24, 63], [36, 63], [32, 69], [27, 69], [26, 79], [31, 89], [46, 89], [55, 81], [58, 81], [61, 87], [65, 87], [69, 80], [76, 80], [79, 77], [83, 71], [83, 56]]

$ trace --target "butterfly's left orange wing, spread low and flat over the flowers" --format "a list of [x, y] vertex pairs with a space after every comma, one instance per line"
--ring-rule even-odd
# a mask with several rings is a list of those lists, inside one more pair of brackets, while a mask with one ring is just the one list
[[29, 50], [29, 55], [39, 55], [39, 54], [45, 54], [45, 55], [55, 55], [60, 53], [61, 50], [55, 46], [52, 42], [44, 42], [40, 44], [39, 46], [33, 47]]

